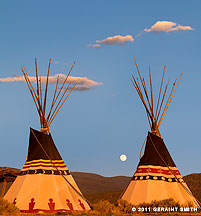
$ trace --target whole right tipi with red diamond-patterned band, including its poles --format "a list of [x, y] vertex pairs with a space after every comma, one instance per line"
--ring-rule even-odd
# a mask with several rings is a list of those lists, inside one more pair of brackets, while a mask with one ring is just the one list
[[138, 205], [143, 202], [150, 203], [154, 200], [160, 201], [173, 198], [180, 204], [185, 205], [191, 203], [192, 206], [199, 207], [198, 201], [193, 197], [191, 191], [184, 182], [159, 132], [159, 126], [171, 103], [182, 74], [178, 82], [175, 80], [173, 83], [168, 99], [163, 105], [169, 85], [168, 82], [162, 93], [165, 74], [164, 67], [157, 105], [154, 111], [150, 67], [149, 96], [145, 79], [141, 76], [136, 61], [135, 65], [138, 71], [139, 79], [132, 76], [131, 81], [145, 107], [151, 132], [148, 132], [147, 138], [145, 139], [146, 145], [144, 155], [140, 158], [136, 172], [120, 198], [134, 205]]

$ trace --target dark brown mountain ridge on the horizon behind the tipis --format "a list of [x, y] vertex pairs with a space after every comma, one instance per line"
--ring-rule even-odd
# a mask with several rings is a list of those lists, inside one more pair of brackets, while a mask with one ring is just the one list
[[[5, 168], [6, 167], [0, 167], [0, 174]], [[10, 167], [9, 169], [13, 169], [15, 172], [18, 170]], [[71, 172], [71, 174], [84, 196], [92, 203], [101, 199], [107, 199], [113, 203], [116, 202], [131, 179], [131, 177], [128, 176], [104, 177], [86, 172]], [[193, 195], [201, 202], [201, 173], [189, 174], [183, 178]], [[8, 187], [9, 186], [10, 184], [8, 184]], [[1, 188], [2, 183], [0, 183], [0, 191]]]

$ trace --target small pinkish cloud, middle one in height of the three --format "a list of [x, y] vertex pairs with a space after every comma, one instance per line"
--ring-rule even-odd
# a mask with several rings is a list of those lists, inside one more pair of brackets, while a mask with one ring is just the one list
[[134, 38], [131, 35], [121, 36], [116, 35], [113, 37], [107, 37], [104, 40], [97, 40], [97, 43], [105, 45], [124, 45], [126, 42], [133, 42]]

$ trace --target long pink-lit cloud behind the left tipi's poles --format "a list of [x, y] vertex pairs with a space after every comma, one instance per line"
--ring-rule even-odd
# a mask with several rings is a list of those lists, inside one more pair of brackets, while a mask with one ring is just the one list
[[[66, 78], [65, 74], [56, 74], [54, 76], [49, 76], [49, 83], [56, 83], [57, 77], [59, 76], [59, 83], [63, 83]], [[29, 76], [31, 82], [36, 83], [36, 77]], [[41, 83], [46, 83], [46, 76], [41, 76]], [[7, 77], [7, 78], [0, 78], [0, 82], [25, 82], [23, 76], [14, 76], [14, 77]], [[101, 82], [96, 82], [93, 80], [88, 79], [87, 77], [72, 77], [69, 76], [67, 79], [67, 83], [74, 84], [77, 82], [75, 90], [89, 90], [95, 86], [102, 85]]]

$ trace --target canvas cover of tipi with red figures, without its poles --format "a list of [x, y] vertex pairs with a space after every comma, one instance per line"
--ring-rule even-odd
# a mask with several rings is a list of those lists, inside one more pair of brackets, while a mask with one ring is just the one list
[[26, 213], [90, 210], [51, 134], [32, 128], [26, 163], [4, 198]]

